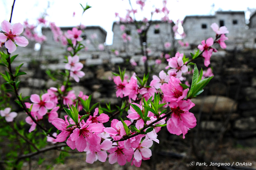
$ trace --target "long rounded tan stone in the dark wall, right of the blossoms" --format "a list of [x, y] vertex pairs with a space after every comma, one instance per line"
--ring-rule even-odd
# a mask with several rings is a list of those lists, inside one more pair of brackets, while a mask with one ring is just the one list
[[[191, 108], [191, 112], [209, 113], [212, 109], [214, 113], [235, 112], [237, 110], [237, 102], [223, 96], [207, 96], [191, 99], [196, 105]], [[213, 108], [214, 107], [214, 108]]]

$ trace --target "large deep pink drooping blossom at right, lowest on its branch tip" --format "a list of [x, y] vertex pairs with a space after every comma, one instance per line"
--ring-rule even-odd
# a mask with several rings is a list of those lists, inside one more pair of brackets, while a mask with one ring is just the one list
[[169, 104], [173, 113], [171, 118], [167, 121], [167, 130], [171, 134], [183, 134], [184, 139], [189, 128], [194, 128], [196, 126], [196, 118], [194, 114], [188, 112], [194, 105], [195, 104], [190, 100], [179, 100]]

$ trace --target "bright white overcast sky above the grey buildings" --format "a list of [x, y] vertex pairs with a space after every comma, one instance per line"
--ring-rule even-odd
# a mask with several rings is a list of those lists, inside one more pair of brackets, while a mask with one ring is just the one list
[[[131, 0], [133, 8], [137, 8], [136, 0]], [[152, 6], [162, 7], [161, 0], [148, 0], [149, 3], [138, 13], [136, 19], [142, 16], [150, 16]], [[92, 6], [88, 9], [83, 17], [82, 5]], [[0, 2], [0, 21], [10, 19], [13, 0], [1, 0]], [[213, 6], [214, 4], [214, 6]], [[170, 18], [176, 21], [183, 20], [186, 15], [213, 15], [214, 11], [247, 11], [247, 7], [256, 9], [256, 0], [168, 0], [168, 9], [170, 10]], [[77, 26], [84, 24], [85, 26], [101, 26], [108, 32], [106, 44], [112, 41], [112, 24], [117, 20], [115, 12], [120, 16], [125, 16], [126, 9], [129, 8], [128, 0], [16, 0], [13, 12], [12, 23], [21, 22], [28, 19], [29, 23], [36, 23], [44, 12], [48, 14], [47, 20], [55, 22], [57, 26]], [[73, 17], [73, 12], [75, 16]], [[250, 13], [246, 13], [249, 18]], [[160, 16], [156, 15], [153, 20], [159, 20]]]

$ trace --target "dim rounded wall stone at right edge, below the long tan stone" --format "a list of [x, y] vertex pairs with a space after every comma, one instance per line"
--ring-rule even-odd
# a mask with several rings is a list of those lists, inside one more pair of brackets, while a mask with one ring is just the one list
[[255, 117], [241, 118], [234, 122], [234, 128], [238, 130], [256, 130]]

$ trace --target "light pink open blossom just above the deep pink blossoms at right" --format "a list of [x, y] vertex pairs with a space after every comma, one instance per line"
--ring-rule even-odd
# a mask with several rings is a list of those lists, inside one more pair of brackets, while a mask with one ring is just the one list
[[171, 67], [172, 69], [170, 69], [170, 70], [177, 73], [177, 75], [176, 75], [177, 78], [180, 78], [182, 76], [182, 73], [185, 73], [188, 71], [188, 68], [184, 64], [182, 58], [183, 58], [183, 53], [180, 54], [179, 52], [177, 52], [175, 54], [175, 57], [167, 59], [168, 66], [166, 67], [166, 69]]

